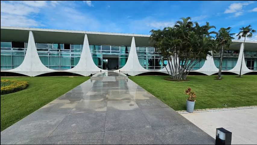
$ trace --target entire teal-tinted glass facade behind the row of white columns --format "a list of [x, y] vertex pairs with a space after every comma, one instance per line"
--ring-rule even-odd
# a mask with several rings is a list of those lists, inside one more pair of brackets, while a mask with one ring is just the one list
[[[106, 64], [115, 59], [117, 67], [122, 68], [128, 60], [129, 46], [112, 46], [112, 45], [89, 45], [92, 59], [96, 66], [101, 69], [108, 69]], [[36, 43], [36, 48], [41, 62], [50, 69], [66, 70], [76, 66], [80, 60], [83, 45], [81, 44], [64, 44], [64, 43]], [[1, 42], [1, 70], [14, 69], [20, 66], [25, 58], [27, 51], [27, 42]], [[138, 60], [141, 66], [148, 70], [160, 70], [167, 65], [161, 61], [162, 55], [159, 55], [153, 47], [136, 47]], [[245, 51], [245, 63], [251, 70], [257, 70], [257, 51]], [[224, 61], [222, 70], [233, 69], [239, 57], [239, 51], [224, 51]], [[104, 60], [105, 59], [105, 60]], [[220, 54], [214, 54], [215, 66], [219, 68]], [[200, 69], [205, 60], [197, 63], [192, 70]], [[105, 65], [105, 67], [103, 67]], [[183, 64], [181, 63], [183, 66]]]

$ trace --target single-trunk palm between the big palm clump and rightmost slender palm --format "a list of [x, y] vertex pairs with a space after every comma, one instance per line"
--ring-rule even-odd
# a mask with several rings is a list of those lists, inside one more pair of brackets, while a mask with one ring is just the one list
[[224, 48], [229, 48], [229, 46], [232, 44], [232, 39], [234, 39], [232, 36], [235, 35], [235, 33], [230, 33], [230, 32], [231, 32], [231, 27], [221, 28], [218, 34], [216, 35], [216, 42], [218, 43], [219, 47], [222, 47], [218, 79], [221, 79]]

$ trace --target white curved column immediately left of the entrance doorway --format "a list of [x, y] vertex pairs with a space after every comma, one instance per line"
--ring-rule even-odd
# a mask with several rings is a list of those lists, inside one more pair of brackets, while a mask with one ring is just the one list
[[106, 70], [100, 69], [94, 63], [90, 52], [90, 48], [89, 48], [87, 34], [85, 34], [82, 53], [78, 64], [74, 68], [65, 70], [64, 72], [76, 73], [82, 76], [90, 76], [91, 74], [99, 73], [101, 70], [106, 71]]

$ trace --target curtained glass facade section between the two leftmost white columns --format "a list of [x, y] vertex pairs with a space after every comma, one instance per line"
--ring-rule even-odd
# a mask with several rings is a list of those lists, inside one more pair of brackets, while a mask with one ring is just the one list
[[83, 45], [62, 43], [36, 43], [41, 62], [50, 69], [66, 70], [76, 66], [80, 60]]

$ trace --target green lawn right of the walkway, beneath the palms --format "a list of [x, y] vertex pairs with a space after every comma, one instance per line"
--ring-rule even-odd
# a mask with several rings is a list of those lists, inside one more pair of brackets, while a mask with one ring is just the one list
[[257, 76], [188, 76], [190, 81], [166, 81], [168, 76], [130, 76], [129, 78], [174, 110], [186, 110], [187, 87], [196, 91], [195, 109], [257, 105]]

